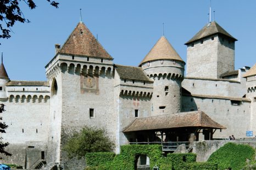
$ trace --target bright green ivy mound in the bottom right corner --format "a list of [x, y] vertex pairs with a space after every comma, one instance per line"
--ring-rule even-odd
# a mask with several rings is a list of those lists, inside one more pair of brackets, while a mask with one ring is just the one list
[[246, 165], [246, 160], [254, 160], [255, 150], [249, 145], [227, 143], [215, 151], [208, 162], [218, 163], [220, 170], [232, 168], [240, 170]]

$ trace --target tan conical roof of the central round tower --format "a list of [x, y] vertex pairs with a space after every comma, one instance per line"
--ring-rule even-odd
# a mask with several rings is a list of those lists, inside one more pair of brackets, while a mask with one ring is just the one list
[[[162, 36], [157, 43], [153, 46], [153, 48], [148, 52], [146, 57], [142, 60], [140, 65], [144, 62], [153, 61], [153, 60], [179, 60], [183, 61], [179, 54], [175, 51], [175, 49], [171, 46], [168, 40]], [[184, 61], [183, 61], [184, 62]]]

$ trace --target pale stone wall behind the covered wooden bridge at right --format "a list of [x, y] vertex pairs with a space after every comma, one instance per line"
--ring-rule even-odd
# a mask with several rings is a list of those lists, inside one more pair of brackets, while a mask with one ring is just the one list
[[[226, 98], [212, 97], [182, 97], [182, 111], [202, 110], [214, 121], [226, 127], [226, 130], [216, 130], [214, 138], [228, 138], [232, 134], [236, 138], [246, 137], [246, 131], [251, 130], [251, 101], [244, 99], [239, 105], [231, 103]], [[199, 136], [199, 140], [203, 136]]]

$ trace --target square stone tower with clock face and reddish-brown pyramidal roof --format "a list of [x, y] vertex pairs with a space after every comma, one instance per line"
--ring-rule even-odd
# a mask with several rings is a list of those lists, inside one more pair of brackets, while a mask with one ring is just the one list
[[85, 161], [68, 160], [63, 146], [70, 131], [84, 126], [104, 127], [115, 141], [113, 58], [83, 22], [62, 48], [59, 44], [55, 48], [57, 54], [46, 66], [52, 89], [48, 155], [53, 155], [47, 163], [66, 162], [65, 167], [77, 163], [82, 169]]

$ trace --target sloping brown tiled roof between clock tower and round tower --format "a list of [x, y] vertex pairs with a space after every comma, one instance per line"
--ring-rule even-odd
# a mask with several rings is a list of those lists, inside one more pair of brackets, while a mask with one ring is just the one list
[[123, 79], [153, 81], [148, 78], [141, 67], [115, 65], [115, 69]]

